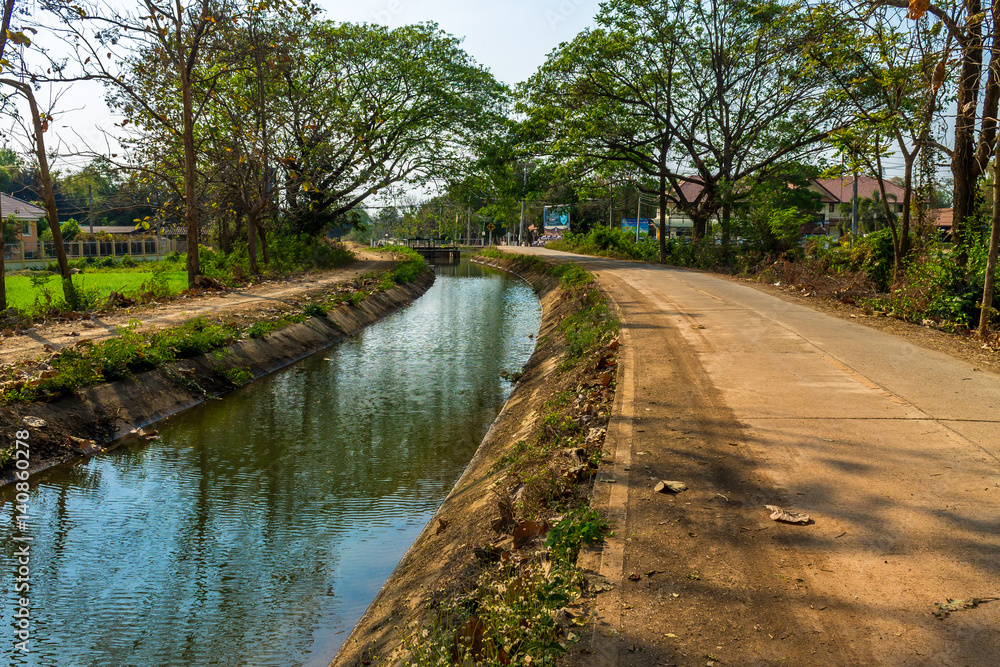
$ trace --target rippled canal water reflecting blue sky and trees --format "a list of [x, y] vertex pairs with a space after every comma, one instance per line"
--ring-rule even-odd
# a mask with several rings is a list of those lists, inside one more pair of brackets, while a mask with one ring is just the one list
[[0, 492], [3, 662], [327, 665], [534, 348], [528, 285], [437, 270], [409, 308], [162, 423], [161, 441], [33, 478], [26, 655]]

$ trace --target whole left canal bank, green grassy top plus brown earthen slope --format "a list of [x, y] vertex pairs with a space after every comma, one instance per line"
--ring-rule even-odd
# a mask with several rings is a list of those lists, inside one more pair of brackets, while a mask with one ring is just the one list
[[[92, 454], [128, 429], [226, 393], [359, 331], [422, 294], [433, 271], [412, 251], [393, 269], [270, 314], [198, 317], [146, 329], [138, 320], [107, 340], [83, 340], [0, 376], [0, 425], [35, 417], [33, 465]], [[81, 449], [81, 442], [90, 445]], [[0, 479], [11, 462], [0, 452]]]

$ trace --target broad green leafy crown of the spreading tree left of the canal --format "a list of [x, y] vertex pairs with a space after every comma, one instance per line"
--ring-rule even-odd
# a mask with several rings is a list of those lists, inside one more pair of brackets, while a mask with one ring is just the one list
[[434, 24], [317, 21], [299, 48], [279, 64], [297, 231], [315, 233], [395, 185], [447, 179], [507, 110], [506, 89]]

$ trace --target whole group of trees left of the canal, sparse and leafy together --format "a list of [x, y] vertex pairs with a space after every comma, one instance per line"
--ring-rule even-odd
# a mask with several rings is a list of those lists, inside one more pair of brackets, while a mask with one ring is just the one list
[[434, 24], [338, 23], [305, 0], [42, 0], [30, 14], [15, 1], [8, 34], [24, 55], [8, 50], [0, 79], [28, 106], [61, 268], [46, 139], [74, 104], [43, 108], [49, 87], [104, 85], [120, 121], [86, 154], [145, 194], [139, 224], [183, 221], [191, 287], [209, 234], [256, 272], [275, 234], [316, 238], [356, 224], [374, 195], [450, 177], [507, 113], [506, 88]]

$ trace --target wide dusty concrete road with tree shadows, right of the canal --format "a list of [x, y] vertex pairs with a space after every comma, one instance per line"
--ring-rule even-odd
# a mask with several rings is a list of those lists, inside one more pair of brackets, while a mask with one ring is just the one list
[[1000, 597], [1000, 376], [731, 281], [579, 261], [625, 356], [596, 485], [616, 535], [589, 563], [616, 587], [569, 664], [1000, 664], [1000, 602], [932, 614]]

